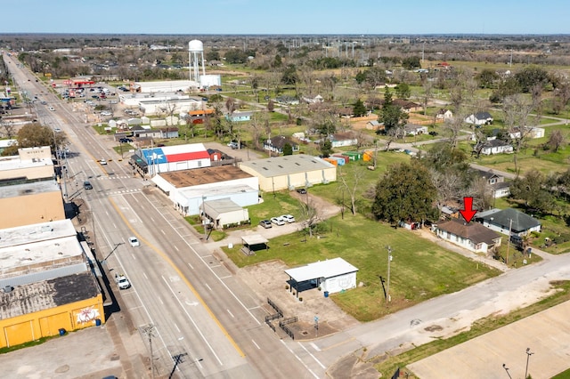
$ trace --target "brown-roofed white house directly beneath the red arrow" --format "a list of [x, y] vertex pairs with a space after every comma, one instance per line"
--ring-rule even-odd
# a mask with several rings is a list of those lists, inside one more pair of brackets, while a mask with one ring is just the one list
[[478, 222], [452, 219], [438, 223], [436, 234], [437, 237], [474, 253], [492, 254], [496, 247], [501, 246], [501, 235]]

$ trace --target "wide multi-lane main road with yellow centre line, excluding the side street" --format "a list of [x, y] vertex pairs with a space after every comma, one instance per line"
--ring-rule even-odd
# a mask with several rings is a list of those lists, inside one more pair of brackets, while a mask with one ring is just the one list
[[[15, 70], [13, 77], [22, 87], [31, 86], [30, 93], [43, 90], [35, 79], [26, 79], [26, 71]], [[60, 128], [71, 141], [63, 192], [69, 201], [80, 199], [87, 206], [80, 209], [80, 216], [89, 220], [85, 232], [94, 240], [105, 272], [112, 278], [120, 271], [131, 281], [131, 288], [123, 291], [110, 287], [149, 356], [152, 345], [155, 374], [322, 377], [322, 365], [299, 346], [287, 346], [265, 326], [267, 313], [261, 306], [265, 299], [258, 299], [202, 246], [164, 194], [148, 187], [150, 181], [134, 177], [125, 161], [112, 158], [115, 142], [94, 133], [85, 125], [85, 115], [71, 104], [58, 103], [54, 108], [38, 113], [44, 124]], [[101, 158], [108, 165], [97, 163]], [[83, 189], [85, 180], [94, 189]], [[138, 237], [142, 245], [128, 245], [130, 236]], [[149, 338], [144, 332], [150, 326]], [[86, 373], [77, 373], [82, 374]]]

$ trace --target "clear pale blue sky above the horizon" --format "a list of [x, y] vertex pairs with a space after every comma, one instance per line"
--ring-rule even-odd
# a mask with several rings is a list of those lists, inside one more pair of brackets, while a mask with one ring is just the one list
[[12, 0], [0, 33], [570, 34], [569, 0]]

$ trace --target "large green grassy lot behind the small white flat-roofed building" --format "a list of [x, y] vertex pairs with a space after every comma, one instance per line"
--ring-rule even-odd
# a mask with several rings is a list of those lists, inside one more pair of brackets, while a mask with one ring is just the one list
[[[361, 321], [379, 319], [440, 294], [459, 291], [499, 274], [459, 254], [444, 250], [411, 231], [394, 229], [361, 215], [345, 214], [324, 222], [319, 238], [304, 232], [273, 238], [269, 250], [246, 256], [239, 249], [224, 249], [238, 266], [279, 259], [289, 267], [319, 260], [344, 258], [359, 269], [363, 286], [334, 294], [332, 299]], [[387, 305], [379, 276], [387, 278], [387, 246], [392, 247], [390, 295]]]

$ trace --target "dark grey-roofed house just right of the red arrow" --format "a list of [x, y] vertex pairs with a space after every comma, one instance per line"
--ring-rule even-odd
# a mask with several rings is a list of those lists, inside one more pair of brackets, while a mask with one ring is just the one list
[[535, 218], [517, 211], [517, 209], [492, 209], [486, 212], [480, 212], [475, 215], [477, 222], [481, 222], [485, 227], [496, 230], [502, 234], [509, 236], [526, 236], [527, 234], [541, 231], [541, 222]]

